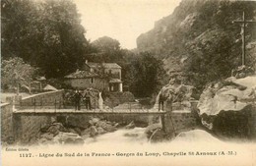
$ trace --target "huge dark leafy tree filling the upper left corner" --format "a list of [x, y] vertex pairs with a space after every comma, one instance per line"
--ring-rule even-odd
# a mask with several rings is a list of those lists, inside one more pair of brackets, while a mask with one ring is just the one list
[[82, 66], [89, 42], [71, 0], [4, 0], [1, 5], [3, 58], [21, 57], [47, 78]]

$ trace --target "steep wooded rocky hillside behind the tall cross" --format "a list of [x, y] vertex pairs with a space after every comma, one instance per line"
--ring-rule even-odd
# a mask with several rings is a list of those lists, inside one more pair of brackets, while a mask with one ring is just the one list
[[[255, 20], [256, 2], [183, 0], [173, 14], [138, 37], [140, 51], [149, 51], [164, 62], [171, 74], [181, 71], [186, 81], [201, 88], [205, 83], [229, 77], [241, 65], [241, 28], [233, 24]], [[256, 40], [255, 24], [246, 26], [246, 65], [255, 64], [249, 43]]]

